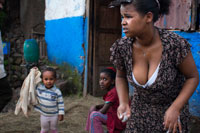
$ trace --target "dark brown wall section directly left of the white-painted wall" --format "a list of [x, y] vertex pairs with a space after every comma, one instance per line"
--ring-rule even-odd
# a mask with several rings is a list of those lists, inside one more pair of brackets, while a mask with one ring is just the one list
[[44, 0], [20, 0], [20, 23], [25, 39], [32, 32], [44, 33]]

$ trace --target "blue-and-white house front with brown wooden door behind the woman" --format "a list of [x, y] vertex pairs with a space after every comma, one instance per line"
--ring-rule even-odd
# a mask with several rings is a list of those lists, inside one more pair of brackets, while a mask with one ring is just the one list
[[[45, 0], [45, 41], [48, 59], [67, 63], [83, 75], [84, 94], [101, 95], [98, 76], [112, 66], [109, 48], [120, 38], [119, 8], [108, 8], [111, 0]], [[173, 30], [192, 45], [200, 72], [200, 0], [173, 0], [170, 14], [156, 26]], [[190, 99], [190, 111], [200, 117], [200, 86]]]

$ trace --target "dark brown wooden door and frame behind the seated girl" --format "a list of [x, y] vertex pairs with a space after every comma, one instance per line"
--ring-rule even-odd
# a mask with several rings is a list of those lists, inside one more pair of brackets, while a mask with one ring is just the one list
[[91, 0], [88, 49], [89, 93], [102, 96], [99, 89], [99, 73], [102, 68], [113, 66], [110, 62], [110, 47], [121, 37], [121, 15], [119, 7], [109, 8], [112, 0]]

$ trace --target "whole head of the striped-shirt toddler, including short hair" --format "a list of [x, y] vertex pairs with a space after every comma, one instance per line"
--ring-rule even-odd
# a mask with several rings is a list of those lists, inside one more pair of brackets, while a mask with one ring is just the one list
[[47, 89], [50, 89], [54, 86], [54, 83], [56, 82], [56, 70], [47, 67], [42, 71], [42, 82], [45, 85]]

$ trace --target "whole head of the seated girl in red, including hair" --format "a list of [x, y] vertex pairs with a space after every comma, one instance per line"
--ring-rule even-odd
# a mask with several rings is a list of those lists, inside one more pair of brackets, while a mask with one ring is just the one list
[[102, 90], [110, 90], [115, 86], [116, 70], [113, 67], [107, 67], [100, 72], [99, 85]]

